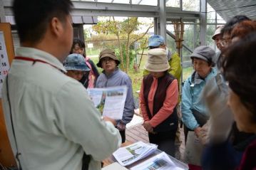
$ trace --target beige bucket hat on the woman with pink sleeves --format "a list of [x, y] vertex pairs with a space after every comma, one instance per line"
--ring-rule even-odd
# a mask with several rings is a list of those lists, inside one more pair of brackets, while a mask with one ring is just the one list
[[148, 60], [145, 69], [153, 72], [169, 70], [170, 65], [167, 60], [166, 51], [163, 48], [153, 48], [148, 51]]

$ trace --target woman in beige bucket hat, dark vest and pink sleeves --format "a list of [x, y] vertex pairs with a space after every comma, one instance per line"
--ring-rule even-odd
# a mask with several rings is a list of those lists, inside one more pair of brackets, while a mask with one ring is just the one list
[[140, 89], [140, 108], [149, 142], [174, 156], [175, 133], [178, 129], [178, 81], [168, 73], [170, 65], [166, 51], [154, 48], [148, 51], [145, 69], [150, 72], [143, 78]]

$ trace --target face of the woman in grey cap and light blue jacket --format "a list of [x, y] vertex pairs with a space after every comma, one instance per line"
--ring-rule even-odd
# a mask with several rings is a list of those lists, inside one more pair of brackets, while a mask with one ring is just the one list
[[206, 78], [212, 69], [211, 65], [208, 65], [205, 60], [199, 58], [193, 58], [193, 66], [201, 78]]

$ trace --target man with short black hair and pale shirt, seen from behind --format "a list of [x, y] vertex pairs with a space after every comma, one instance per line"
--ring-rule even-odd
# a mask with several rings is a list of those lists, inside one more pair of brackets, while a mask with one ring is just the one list
[[99, 170], [121, 144], [114, 121], [101, 118], [83, 85], [64, 74], [72, 7], [70, 0], [14, 0], [21, 47], [2, 101], [19, 169]]

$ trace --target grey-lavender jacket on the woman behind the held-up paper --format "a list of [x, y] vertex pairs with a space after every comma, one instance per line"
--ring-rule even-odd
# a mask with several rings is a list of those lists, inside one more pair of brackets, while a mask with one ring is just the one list
[[121, 122], [123, 124], [128, 124], [131, 119], [133, 119], [134, 115], [134, 100], [133, 100], [133, 88], [132, 83], [129, 76], [123, 71], [117, 68], [111, 75], [106, 75], [105, 72], [101, 73], [98, 76], [96, 87], [114, 87], [119, 85], [126, 85], [127, 86], [127, 96], [126, 96], [126, 103], [123, 109], [123, 119]]

